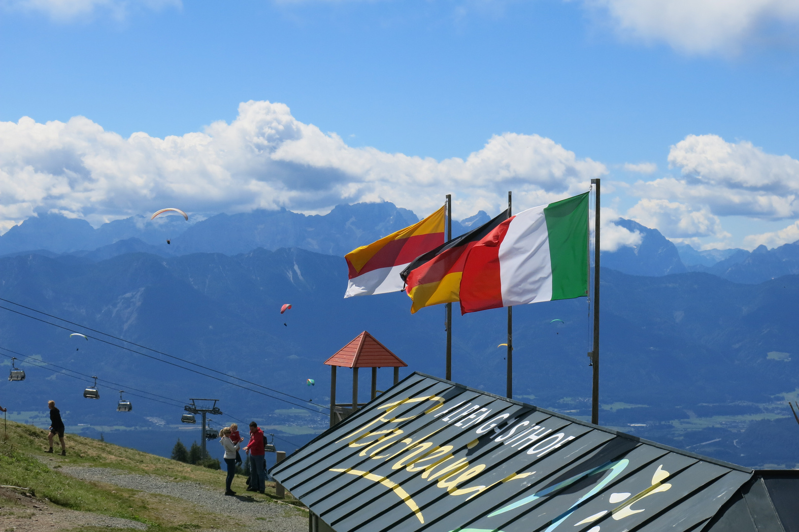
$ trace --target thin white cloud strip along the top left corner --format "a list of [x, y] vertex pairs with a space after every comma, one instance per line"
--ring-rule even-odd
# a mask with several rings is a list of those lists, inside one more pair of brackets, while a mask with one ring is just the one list
[[34, 11], [61, 22], [105, 11], [113, 18], [124, 18], [130, 10], [160, 10], [181, 7], [181, 0], [0, 0], [6, 10]]

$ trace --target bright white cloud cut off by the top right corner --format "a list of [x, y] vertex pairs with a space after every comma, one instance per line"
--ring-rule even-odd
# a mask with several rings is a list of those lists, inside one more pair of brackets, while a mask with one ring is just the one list
[[584, 0], [618, 32], [666, 42], [690, 54], [735, 54], [747, 38], [777, 22], [799, 22], [796, 0]]

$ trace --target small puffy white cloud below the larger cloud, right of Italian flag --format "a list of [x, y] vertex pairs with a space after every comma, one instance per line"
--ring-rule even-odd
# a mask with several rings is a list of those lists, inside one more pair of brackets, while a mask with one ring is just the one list
[[627, 217], [646, 227], [657, 228], [666, 238], [729, 236], [721, 229], [718, 216], [714, 216], [708, 208], [694, 208], [668, 200], [642, 199], [627, 211]]

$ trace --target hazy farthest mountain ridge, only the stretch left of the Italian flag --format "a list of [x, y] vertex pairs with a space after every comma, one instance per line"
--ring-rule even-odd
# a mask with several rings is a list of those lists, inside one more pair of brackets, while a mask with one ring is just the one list
[[[453, 220], [452, 232], [457, 236], [472, 224], [486, 220], [488, 216], [483, 211], [463, 220], [463, 225]], [[328, 214], [314, 216], [286, 209], [256, 209], [217, 214], [196, 223], [187, 223], [181, 216], [161, 216], [156, 220], [132, 216], [97, 229], [85, 220], [42, 213], [0, 236], [0, 256], [42, 250], [101, 260], [125, 252], [236, 255], [256, 248], [302, 248], [344, 256], [417, 221], [419, 217], [413, 212], [390, 202], [338, 205]]]

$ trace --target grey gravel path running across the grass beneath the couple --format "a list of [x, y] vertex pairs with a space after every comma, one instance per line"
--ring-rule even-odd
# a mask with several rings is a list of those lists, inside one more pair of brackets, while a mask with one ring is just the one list
[[201, 506], [203, 510], [228, 515], [246, 522], [248, 530], [253, 532], [306, 532], [308, 530], [308, 513], [281, 502], [256, 500], [241, 494], [232, 497], [225, 496], [198, 482], [170, 482], [153, 474], [125, 473], [108, 467], [65, 466], [59, 470], [81, 480], [106, 482], [147, 493], [181, 498]]

